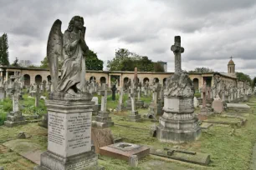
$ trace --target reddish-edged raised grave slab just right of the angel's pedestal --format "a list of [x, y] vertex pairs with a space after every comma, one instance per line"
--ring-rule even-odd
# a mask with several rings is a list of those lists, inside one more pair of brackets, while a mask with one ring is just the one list
[[146, 157], [150, 154], [150, 148], [132, 143], [115, 143], [100, 148], [100, 154], [129, 161], [131, 155], [137, 155], [139, 159]]

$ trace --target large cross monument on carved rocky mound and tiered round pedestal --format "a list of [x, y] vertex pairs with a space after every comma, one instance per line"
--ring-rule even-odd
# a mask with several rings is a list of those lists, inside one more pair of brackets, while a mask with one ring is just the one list
[[158, 140], [165, 143], [187, 143], [197, 140], [201, 134], [198, 119], [194, 115], [194, 87], [186, 72], [182, 72], [181, 37], [176, 36], [171, 47], [175, 56], [175, 73], [169, 77], [164, 91], [164, 113], [156, 129]]

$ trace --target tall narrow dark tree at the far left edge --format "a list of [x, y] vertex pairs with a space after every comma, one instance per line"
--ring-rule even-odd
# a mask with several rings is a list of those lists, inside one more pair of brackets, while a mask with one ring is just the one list
[[9, 64], [8, 35], [4, 33], [0, 37], [0, 65], [8, 66]]

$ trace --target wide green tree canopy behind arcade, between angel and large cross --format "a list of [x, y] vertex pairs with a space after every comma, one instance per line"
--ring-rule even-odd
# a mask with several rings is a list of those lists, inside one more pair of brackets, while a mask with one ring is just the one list
[[115, 57], [107, 62], [107, 67], [110, 71], [134, 71], [137, 67], [140, 72], [164, 72], [160, 63], [152, 62], [148, 57], [125, 48], [115, 51]]

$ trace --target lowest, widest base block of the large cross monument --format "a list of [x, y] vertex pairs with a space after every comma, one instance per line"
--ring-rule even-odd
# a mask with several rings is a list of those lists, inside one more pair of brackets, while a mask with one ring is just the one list
[[196, 141], [201, 136], [201, 128], [178, 130], [156, 127], [156, 136], [162, 143], [187, 143]]

